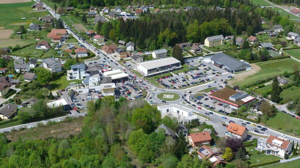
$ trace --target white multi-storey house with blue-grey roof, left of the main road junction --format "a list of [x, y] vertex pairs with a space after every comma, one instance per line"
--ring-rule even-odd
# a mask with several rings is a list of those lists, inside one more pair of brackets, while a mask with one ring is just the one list
[[85, 65], [83, 63], [71, 65], [70, 68], [67, 71], [67, 80], [83, 79], [85, 76]]

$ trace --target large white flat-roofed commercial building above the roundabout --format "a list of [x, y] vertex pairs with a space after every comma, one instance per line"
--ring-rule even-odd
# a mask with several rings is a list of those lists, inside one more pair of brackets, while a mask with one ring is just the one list
[[137, 70], [140, 71], [144, 77], [169, 71], [175, 71], [176, 69], [180, 68], [180, 61], [173, 57], [154, 59], [137, 63]]

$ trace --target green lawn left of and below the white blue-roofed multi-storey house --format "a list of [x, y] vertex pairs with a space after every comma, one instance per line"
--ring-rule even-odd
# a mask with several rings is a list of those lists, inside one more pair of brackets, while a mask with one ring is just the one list
[[[67, 80], [67, 75], [59, 77], [58, 80], [49, 83], [47, 88], [51, 91], [65, 89], [68, 85], [81, 83], [81, 80]], [[75, 82], [75, 83], [74, 83]], [[71, 83], [71, 84], [70, 84]]]

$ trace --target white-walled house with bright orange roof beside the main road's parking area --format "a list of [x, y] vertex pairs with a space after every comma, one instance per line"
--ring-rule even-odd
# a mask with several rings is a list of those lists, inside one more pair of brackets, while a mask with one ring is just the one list
[[248, 129], [246, 127], [233, 122], [229, 124], [227, 131], [228, 132], [225, 134], [227, 138], [238, 138], [244, 140], [248, 136]]

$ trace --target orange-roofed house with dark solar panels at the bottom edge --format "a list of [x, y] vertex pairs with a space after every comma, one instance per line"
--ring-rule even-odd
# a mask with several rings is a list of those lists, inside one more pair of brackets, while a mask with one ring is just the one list
[[226, 166], [226, 162], [219, 155], [219, 152], [212, 149], [209, 146], [203, 145], [197, 150], [199, 159], [208, 159], [212, 163], [212, 168], [216, 167], [218, 164], [222, 164], [223, 167]]

